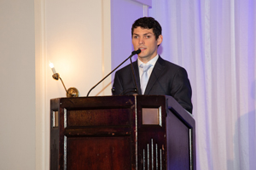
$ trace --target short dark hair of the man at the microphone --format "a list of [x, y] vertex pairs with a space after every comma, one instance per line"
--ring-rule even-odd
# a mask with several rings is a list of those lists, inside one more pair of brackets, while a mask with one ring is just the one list
[[158, 37], [162, 34], [162, 27], [160, 26], [159, 22], [157, 20], [154, 20], [152, 17], [143, 17], [139, 18], [138, 20], [135, 20], [131, 27], [131, 37], [133, 36], [133, 31], [138, 26], [146, 29], [153, 28], [154, 37], [157, 40]]

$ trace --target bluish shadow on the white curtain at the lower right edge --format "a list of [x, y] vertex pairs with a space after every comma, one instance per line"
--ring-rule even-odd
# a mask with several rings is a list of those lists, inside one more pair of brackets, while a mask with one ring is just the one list
[[[255, 98], [256, 80], [253, 81], [249, 96]], [[256, 110], [240, 116], [236, 121], [233, 140], [234, 160], [228, 160], [228, 170], [256, 169]]]

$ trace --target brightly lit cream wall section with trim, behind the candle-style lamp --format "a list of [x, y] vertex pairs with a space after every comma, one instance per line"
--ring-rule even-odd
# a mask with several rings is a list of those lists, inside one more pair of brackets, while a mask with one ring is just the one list
[[[35, 5], [37, 47], [37, 169], [49, 169], [49, 99], [66, 97], [49, 61], [66, 88], [86, 96], [111, 70], [110, 0], [41, 0]], [[38, 12], [40, 11], [40, 12]], [[111, 77], [90, 96], [110, 95]]]

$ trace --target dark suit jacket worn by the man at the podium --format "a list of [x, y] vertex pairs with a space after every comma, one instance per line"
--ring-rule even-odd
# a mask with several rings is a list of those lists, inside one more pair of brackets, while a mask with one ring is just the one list
[[[142, 94], [137, 60], [132, 63], [138, 86], [138, 94]], [[132, 78], [131, 65], [116, 71], [113, 81], [113, 95], [134, 94], [135, 82]], [[148, 79], [145, 95], [170, 95], [183, 108], [192, 113], [192, 90], [187, 71], [183, 67], [175, 65], [159, 57]]]

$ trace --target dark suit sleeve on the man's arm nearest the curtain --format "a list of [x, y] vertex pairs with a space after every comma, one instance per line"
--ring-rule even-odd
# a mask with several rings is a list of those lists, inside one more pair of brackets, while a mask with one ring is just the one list
[[193, 105], [191, 102], [192, 89], [190, 86], [187, 71], [180, 67], [175, 72], [172, 81], [171, 95], [183, 108], [192, 113]]

